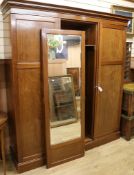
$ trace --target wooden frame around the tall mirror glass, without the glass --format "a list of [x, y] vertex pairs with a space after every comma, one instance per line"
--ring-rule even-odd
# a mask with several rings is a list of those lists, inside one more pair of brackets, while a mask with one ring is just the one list
[[[47, 34], [81, 36], [81, 137], [56, 145], [50, 142], [50, 106], [48, 85]], [[45, 147], [47, 168], [84, 156], [85, 139], [85, 32], [76, 30], [41, 30], [41, 78], [43, 83], [43, 118], [45, 122]], [[77, 146], [76, 146], [77, 145]]]

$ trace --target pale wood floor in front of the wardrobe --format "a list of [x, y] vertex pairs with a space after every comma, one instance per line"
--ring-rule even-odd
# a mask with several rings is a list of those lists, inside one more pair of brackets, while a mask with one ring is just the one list
[[[8, 165], [7, 175], [16, 174]], [[120, 138], [87, 151], [80, 159], [50, 169], [43, 166], [22, 175], [134, 175], [134, 139], [127, 142]]]

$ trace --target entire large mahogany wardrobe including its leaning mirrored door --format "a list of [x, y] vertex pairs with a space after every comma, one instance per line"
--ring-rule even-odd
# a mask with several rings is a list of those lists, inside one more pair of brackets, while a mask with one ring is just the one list
[[19, 173], [120, 137], [128, 19], [4, 0], [11, 153]]

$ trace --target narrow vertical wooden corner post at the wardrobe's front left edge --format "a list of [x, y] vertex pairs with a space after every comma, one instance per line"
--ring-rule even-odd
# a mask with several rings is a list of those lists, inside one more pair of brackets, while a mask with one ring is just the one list
[[[19, 96], [19, 92], [18, 92], [18, 74], [17, 74], [17, 69], [15, 69], [16, 67], [16, 60], [18, 58], [18, 50], [17, 50], [17, 22], [16, 22], [16, 16], [14, 14], [11, 15], [11, 27], [12, 27], [12, 30], [11, 30], [11, 43], [12, 43], [12, 61], [11, 61], [11, 67], [12, 67], [12, 77], [11, 77], [11, 81], [12, 81], [12, 97], [14, 97], [12, 99], [12, 104], [13, 104], [13, 116], [14, 116], [14, 122], [15, 122], [15, 129], [16, 130], [19, 130], [21, 127], [20, 127], [20, 117], [19, 117], [19, 99], [18, 99], [18, 96]], [[16, 48], [16, 49], [14, 49]], [[17, 116], [17, 117], [16, 117]], [[20, 129], [20, 133], [21, 133], [21, 129]], [[19, 162], [22, 162], [23, 159], [22, 159], [22, 155], [23, 155], [23, 152], [22, 152], [22, 148], [21, 148], [21, 145], [22, 145], [22, 138], [20, 137], [20, 133], [16, 132], [16, 151], [19, 152], [19, 154], [17, 154], [17, 160]]]

